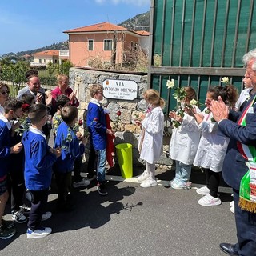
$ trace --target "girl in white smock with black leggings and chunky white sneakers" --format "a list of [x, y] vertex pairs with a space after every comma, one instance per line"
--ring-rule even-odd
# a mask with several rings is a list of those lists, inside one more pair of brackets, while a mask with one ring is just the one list
[[[222, 97], [226, 105], [234, 108], [237, 99], [237, 90], [234, 86], [215, 86], [208, 90], [206, 102], [213, 99], [218, 100], [218, 96]], [[193, 113], [192, 115], [198, 122], [199, 129], [202, 130], [198, 152], [194, 158], [194, 166], [202, 167], [206, 174], [206, 186], [196, 190], [198, 194], [204, 195], [198, 204], [201, 206], [218, 206], [222, 203], [218, 198], [220, 172], [230, 139], [218, 130], [218, 122], [214, 120], [208, 108], [202, 114]]]

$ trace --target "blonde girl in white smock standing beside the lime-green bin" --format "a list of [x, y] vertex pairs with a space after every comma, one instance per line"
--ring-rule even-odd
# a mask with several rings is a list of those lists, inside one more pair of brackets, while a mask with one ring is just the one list
[[150, 187], [158, 184], [154, 177], [155, 162], [162, 154], [164, 124], [162, 108], [164, 108], [165, 102], [158, 91], [154, 89], [146, 90], [143, 97], [148, 103], [146, 116], [142, 122], [136, 121], [136, 124], [142, 126], [138, 150], [140, 158], [146, 162], [146, 170], [138, 176], [138, 182], [142, 182], [140, 185], [142, 187]]

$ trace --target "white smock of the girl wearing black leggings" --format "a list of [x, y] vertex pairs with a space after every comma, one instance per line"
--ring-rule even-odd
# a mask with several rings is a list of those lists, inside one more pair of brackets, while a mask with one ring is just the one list
[[[205, 112], [202, 112], [202, 114]], [[218, 122], [213, 122], [212, 113], [204, 114], [203, 121], [198, 125], [202, 130], [198, 152], [194, 158], [194, 166], [210, 169], [214, 172], [222, 171], [223, 161], [230, 138], [218, 130]]]

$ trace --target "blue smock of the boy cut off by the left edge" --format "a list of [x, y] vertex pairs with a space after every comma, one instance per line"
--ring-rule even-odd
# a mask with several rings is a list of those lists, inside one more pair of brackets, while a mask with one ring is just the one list
[[[7, 120], [7, 119], [6, 119]], [[0, 178], [8, 172], [10, 160], [10, 126], [0, 120]]]

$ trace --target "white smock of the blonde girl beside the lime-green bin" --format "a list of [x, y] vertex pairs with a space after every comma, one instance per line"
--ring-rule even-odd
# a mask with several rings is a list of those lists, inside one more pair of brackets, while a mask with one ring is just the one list
[[160, 106], [155, 107], [150, 113], [146, 113], [142, 126], [145, 128], [145, 136], [142, 141], [142, 133], [139, 138], [138, 148], [142, 143], [140, 158], [152, 164], [162, 155], [164, 116]]

